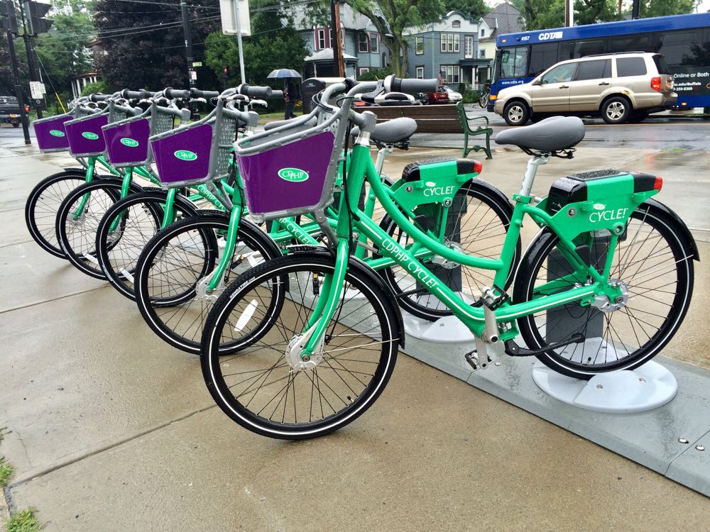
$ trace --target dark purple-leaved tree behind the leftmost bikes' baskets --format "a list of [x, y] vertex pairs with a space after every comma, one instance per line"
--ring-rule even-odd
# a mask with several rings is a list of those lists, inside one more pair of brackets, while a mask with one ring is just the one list
[[[107, 55], [99, 58], [99, 72], [115, 87], [158, 90], [163, 87], [187, 87], [185, 42], [180, 6], [158, 2], [98, 0], [95, 24]], [[202, 60], [204, 40], [219, 27], [217, 0], [200, 0], [192, 6], [190, 28], [193, 55]], [[200, 74], [202, 74], [201, 71]], [[200, 78], [207, 87], [214, 84]]]

